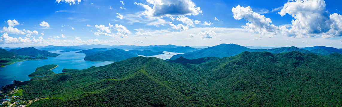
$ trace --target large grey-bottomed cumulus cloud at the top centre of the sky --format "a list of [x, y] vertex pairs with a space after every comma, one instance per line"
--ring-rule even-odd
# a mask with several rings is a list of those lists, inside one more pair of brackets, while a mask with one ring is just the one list
[[[135, 3], [146, 10], [144, 15], [150, 17], [198, 15], [202, 13], [200, 7], [190, 0], [147, 0], [148, 4]], [[150, 7], [150, 5], [153, 5]]]

